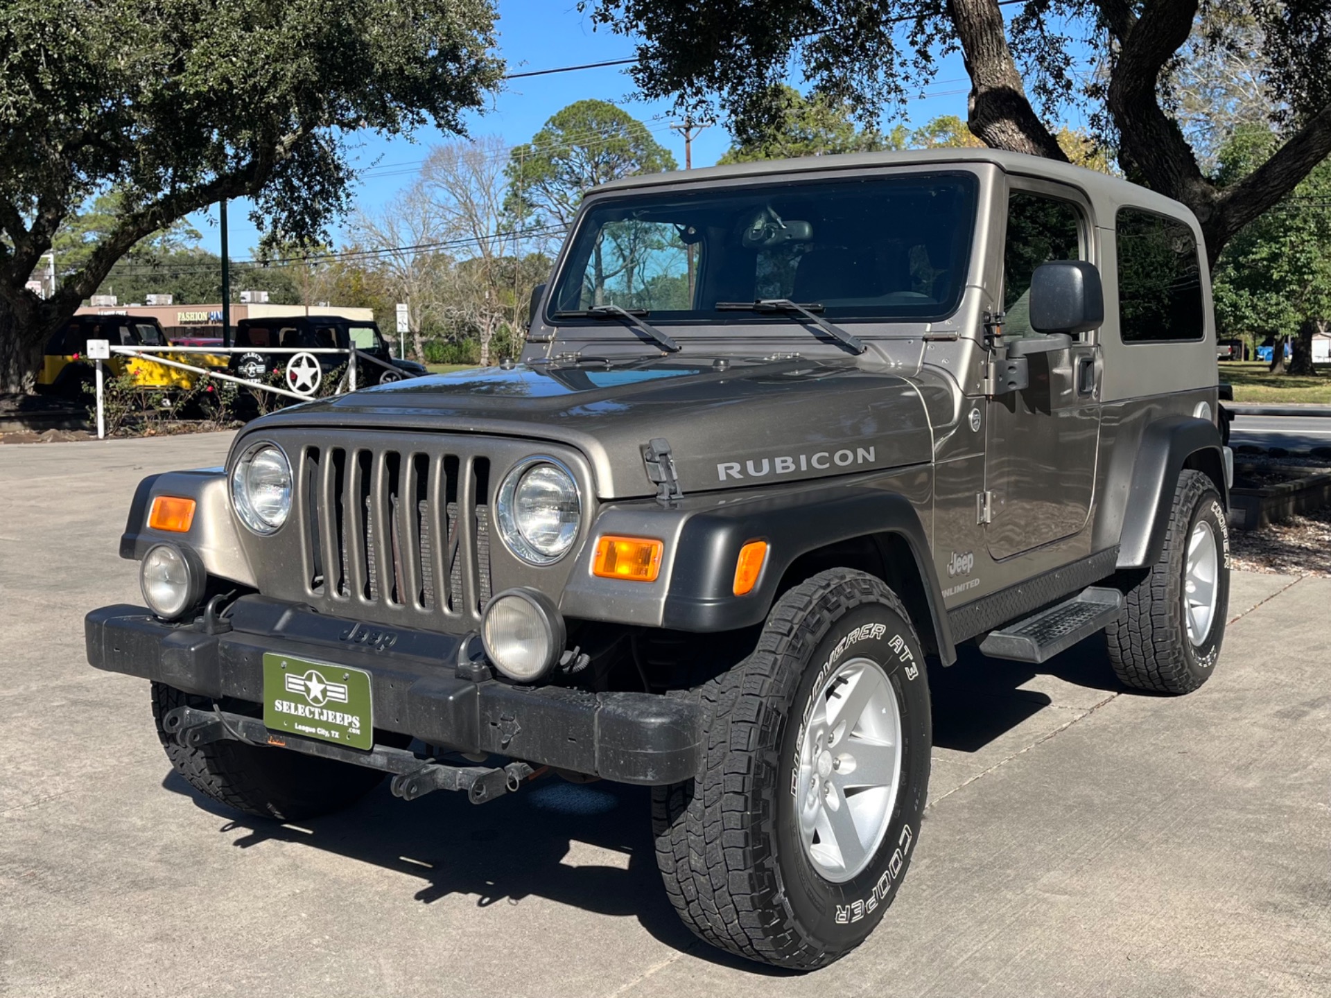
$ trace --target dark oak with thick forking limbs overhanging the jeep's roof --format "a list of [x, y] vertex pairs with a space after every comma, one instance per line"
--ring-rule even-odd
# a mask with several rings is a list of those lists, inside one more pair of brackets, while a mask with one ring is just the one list
[[[865, 122], [928, 84], [960, 51], [968, 124], [989, 146], [1065, 160], [1047, 124], [1083, 104], [1133, 181], [1198, 216], [1214, 262], [1244, 225], [1331, 153], [1331, 5], [1326, 0], [583, 0], [594, 20], [640, 37], [634, 76], [648, 97], [695, 116], [776, 112], [792, 63]], [[1225, 16], [1219, 17], [1221, 12]], [[1012, 15], [1005, 17], [1005, 15]], [[1231, 185], [1203, 170], [1170, 98], [1190, 44], [1256, 39], [1279, 149]]]

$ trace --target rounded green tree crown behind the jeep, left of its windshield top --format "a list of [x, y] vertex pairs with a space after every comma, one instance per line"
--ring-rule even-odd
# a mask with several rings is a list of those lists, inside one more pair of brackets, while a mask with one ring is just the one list
[[512, 150], [506, 209], [524, 225], [568, 225], [598, 184], [673, 169], [642, 121], [607, 101], [576, 101]]

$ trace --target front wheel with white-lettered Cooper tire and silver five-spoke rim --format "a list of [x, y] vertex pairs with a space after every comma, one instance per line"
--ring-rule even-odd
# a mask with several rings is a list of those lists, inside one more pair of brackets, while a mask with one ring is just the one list
[[932, 724], [905, 608], [870, 575], [821, 572], [696, 695], [703, 772], [652, 801], [672, 904], [737, 955], [839, 959], [882, 918], [920, 837]]

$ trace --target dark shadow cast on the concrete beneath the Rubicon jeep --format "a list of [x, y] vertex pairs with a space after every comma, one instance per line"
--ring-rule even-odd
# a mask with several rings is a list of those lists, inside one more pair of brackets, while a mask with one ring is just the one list
[[[1040, 667], [985, 659], [969, 647], [960, 651], [956, 665], [929, 673], [934, 743], [941, 748], [974, 752], [1050, 705], [1046, 695], [1018, 689], [1037, 675], [1118, 689], [1094, 640]], [[241, 849], [295, 842], [407, 873], [421, 881], [415, 900], [425, 905], [449, 896], [475, 897], [482, 908], [539, 897], [636, 917], [660, 942], [703, 959], [757, 974], [789, 973], [715, 950], [680, 923], [656, 870], [647, 788], [547, 777], [478, 806], [449, 792], [401, 801], [385, 781], [354, 808], [295, 826], [240, 816], [196, 792], [174, 770], [162, 785], [224, 818], [221, 833], [241, 832], [234, 838]], [[598, 861], [583, 844], [618, 853], [623, 865]]]

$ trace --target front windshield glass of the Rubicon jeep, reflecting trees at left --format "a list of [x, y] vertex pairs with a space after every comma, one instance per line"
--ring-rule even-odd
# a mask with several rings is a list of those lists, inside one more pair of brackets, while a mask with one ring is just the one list
[[944, 318], [965, 285], [976, 188], [912, 173], [607, 200], [578, 228], [547, 321], [616, 305], [652, 323], [733, 323], [752, 319], [717, 302], [773, 298], [833, 319]]

